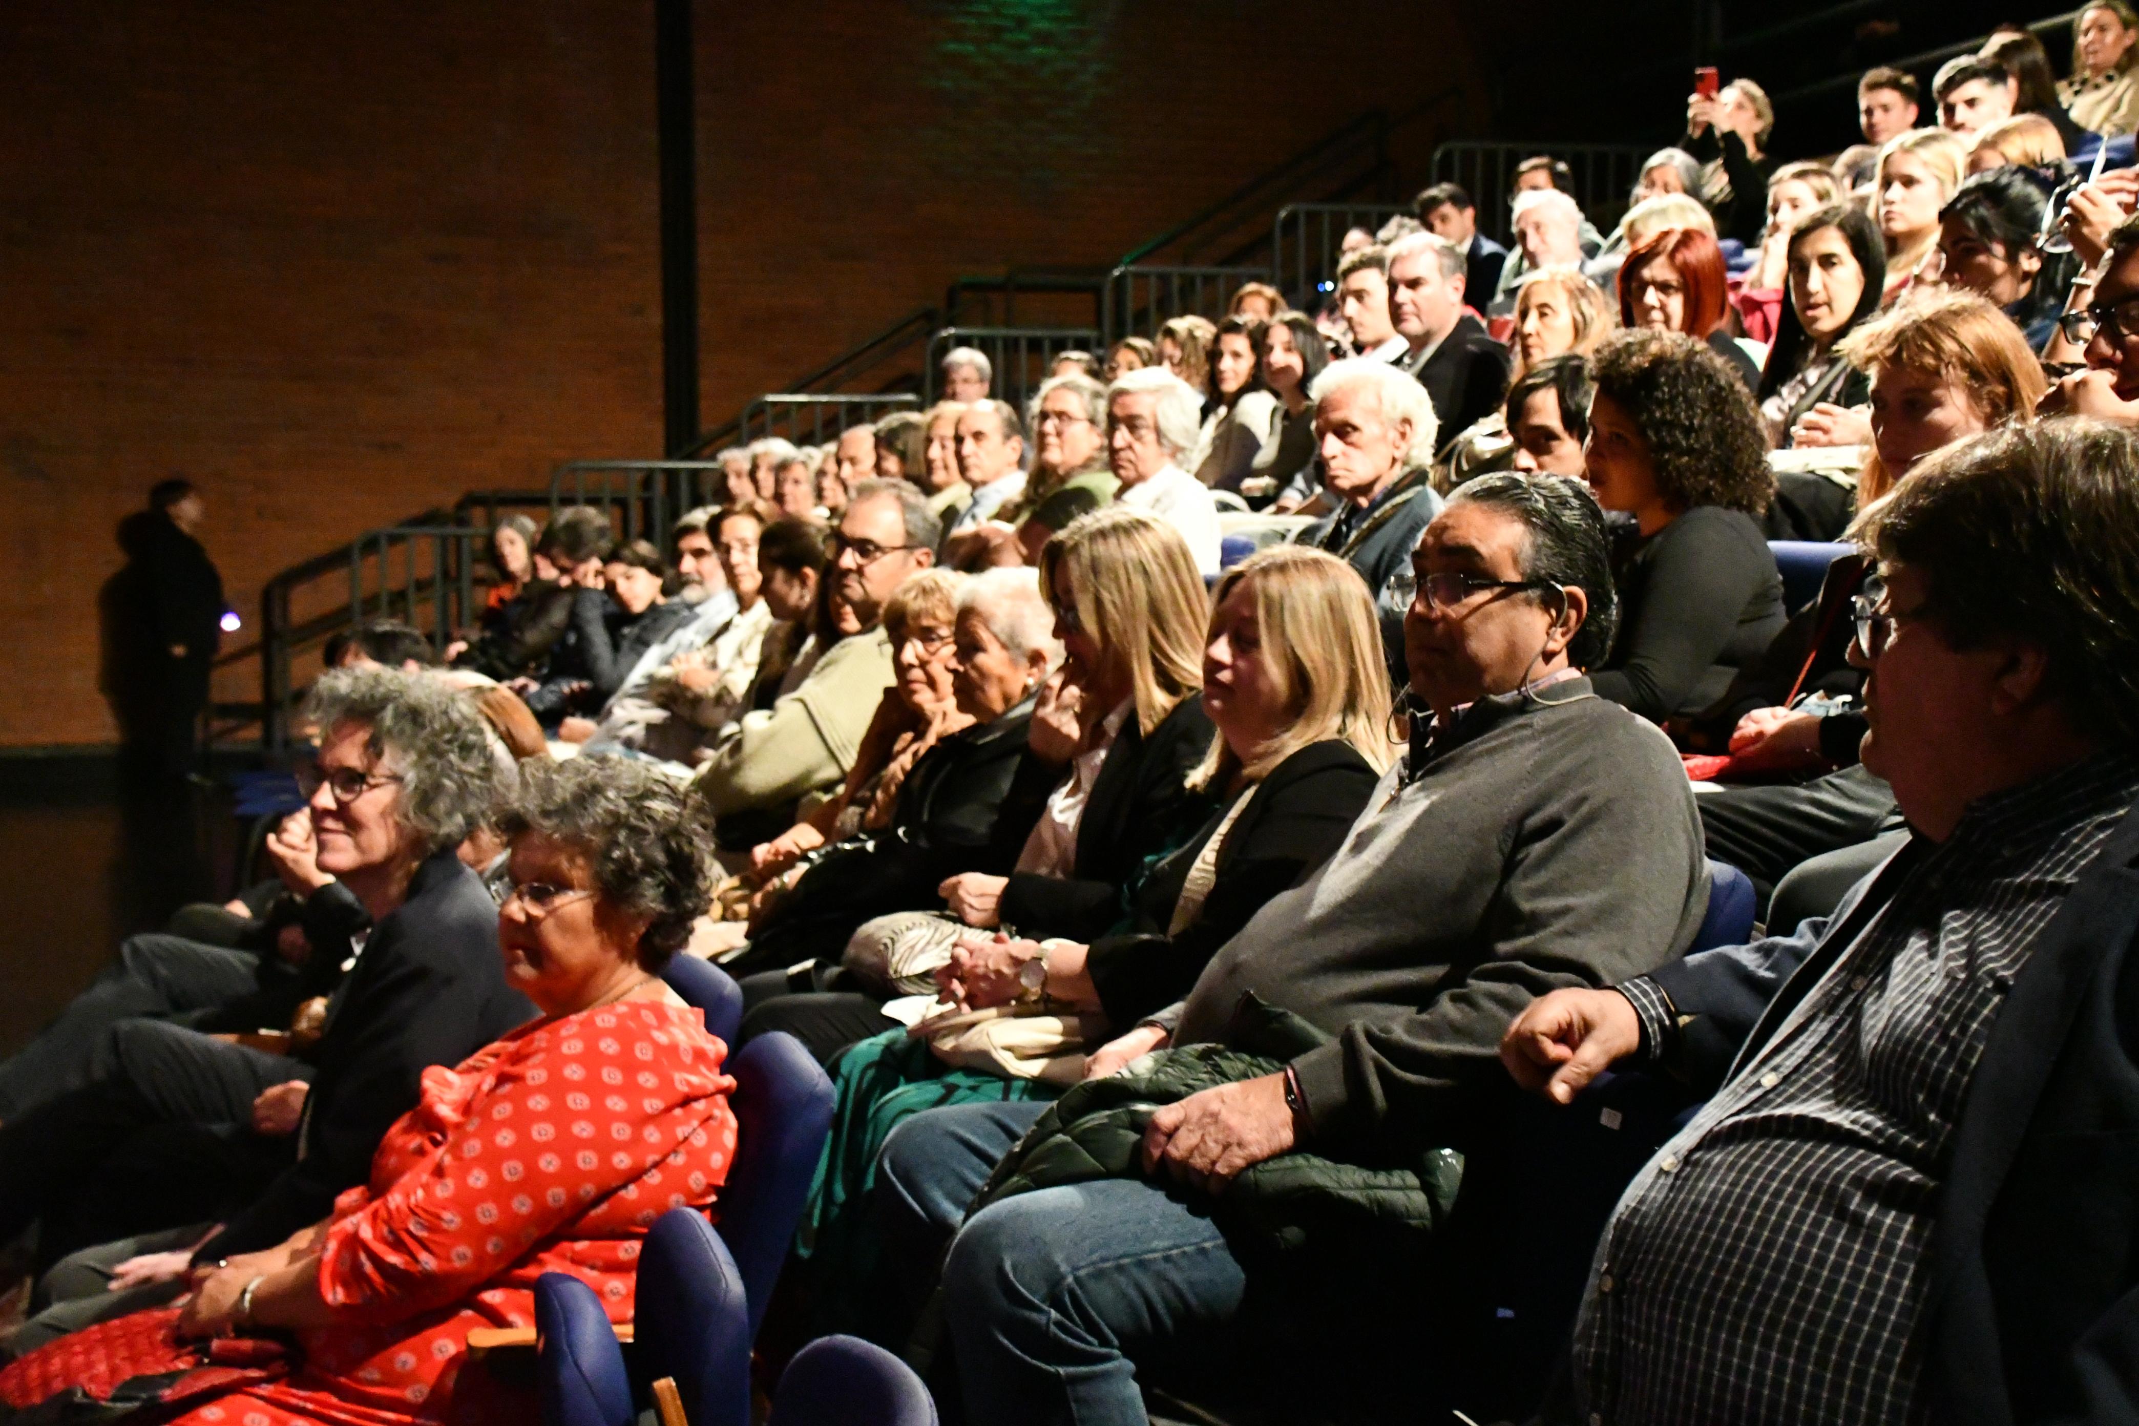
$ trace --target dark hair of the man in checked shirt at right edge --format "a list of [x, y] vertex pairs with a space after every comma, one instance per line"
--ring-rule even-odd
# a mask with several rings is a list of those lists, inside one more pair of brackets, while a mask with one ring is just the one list
[[1925, 458], [1850, 539], [1925, 575], [1946, 644], [2041, 648], [2077, 729], [2139, 740], [2139, 432], [1994, 430]]

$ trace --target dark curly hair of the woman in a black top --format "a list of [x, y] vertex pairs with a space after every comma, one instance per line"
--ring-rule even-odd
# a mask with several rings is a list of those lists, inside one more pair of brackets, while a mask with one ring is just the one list
[[1591, 357], [1596, 396], [1641, 430], [1656, 492], [1677, 511], [1720, 505], [1754, 520], [1775, 500], [1760, 410], [1707, 342], [1681, 331], [1617, 331]]

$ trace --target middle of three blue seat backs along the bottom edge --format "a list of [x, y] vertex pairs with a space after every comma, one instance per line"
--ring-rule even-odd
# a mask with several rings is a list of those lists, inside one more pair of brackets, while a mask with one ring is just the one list
[[640, 1255], [633, 1360], [676, 1379], [691, 1426], [751, 1426], [751, 1302], [727, 1244], [695, 1208], [672, 1208]]

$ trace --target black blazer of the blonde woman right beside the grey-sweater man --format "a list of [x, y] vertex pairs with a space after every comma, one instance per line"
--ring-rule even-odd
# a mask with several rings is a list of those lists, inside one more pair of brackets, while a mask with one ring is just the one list
[[1084, 958], [1108, 1022], [1123, 1030], [1187, 996], [1217, 947], [1266, 900], [1330, 859], [1378, 782], [1373, 765], [1348, 742], [1311, 742], [1281, 761], [1226, 834], [1202, 911], [1179, 936], [1168, 936], [1181, 885], [1226, 817], [1224, 806], [1211, 812], [1202, 832], [1144, 879], [1134, 898], [1134, 928], [1095, 941]]

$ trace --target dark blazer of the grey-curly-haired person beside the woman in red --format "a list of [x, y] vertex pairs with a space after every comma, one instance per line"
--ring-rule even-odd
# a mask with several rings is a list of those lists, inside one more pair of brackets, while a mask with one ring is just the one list
[[481, 877], [453, 849], [432, 853], [327, 1003], [297, 1163], [201, 1244], [195, 1261], [272, 1249], [325, 1219], [338, 1193], [370, 1178], [379, 1140], [415, 1107], [426, 1069], [458, 1065], [533, 1016], [505, 986], [498, 904]]

